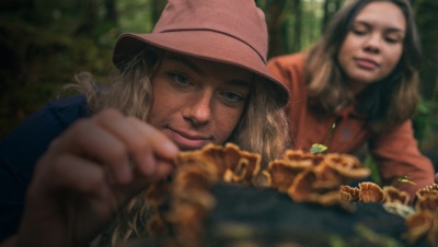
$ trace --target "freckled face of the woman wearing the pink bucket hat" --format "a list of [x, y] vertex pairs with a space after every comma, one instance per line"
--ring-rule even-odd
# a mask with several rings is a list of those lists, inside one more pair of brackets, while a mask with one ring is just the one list
[[242, 117], [252, 77], [234, 66], [166, 52], [151, 80], [148, 122], [181, 150], [223, 144]]

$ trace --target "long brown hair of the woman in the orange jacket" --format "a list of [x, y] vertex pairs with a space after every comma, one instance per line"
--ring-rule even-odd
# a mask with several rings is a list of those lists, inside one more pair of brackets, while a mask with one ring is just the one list
[[[395, 69], [355, 97], [347, 91], [346, 78], [337, 62], [343, 42], [357, 14], [371, 2], [391, 2], [406, 20], [403, 54]], [[414, 14], [407, 0], [353, 0], [334, 16], [321, 39], [311, 48], [306, 66], [310, 107], [331, 115], [339, 106], [355, 103], [365, 114], [366, 126], [374, 131], [388, 130], [412, 118], [418, 94], [420, 47]]]

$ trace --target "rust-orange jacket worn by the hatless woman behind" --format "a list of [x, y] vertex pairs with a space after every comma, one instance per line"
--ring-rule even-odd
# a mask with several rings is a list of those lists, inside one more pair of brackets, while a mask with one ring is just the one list
[[[321, 118], [308, 109], [303, 75], [306, 56], [303, 52], [292, 54], [268, 61], [270, 71], [291, 93], [286, 113], [291, 121], [292, 148], [310, 151], [313, 143], [325, 143], [332, 134], [326, 152], [359, 155], [360, 151], [367, 148], [378, 164], [383, 185], [392, 185], [410, 174], [408, 179], [416, 185], [399, 183], [396, 187], [410, 192], [412, 199], [418, 188], [434, 184], [434, 166], [418, 151], [411, 120], [391, 132], [377, 134], [364, 127], [364, 118], [355, 113], [354, 106], [326, 118]], [[337, 124], [333, 129], [335, 121]]]

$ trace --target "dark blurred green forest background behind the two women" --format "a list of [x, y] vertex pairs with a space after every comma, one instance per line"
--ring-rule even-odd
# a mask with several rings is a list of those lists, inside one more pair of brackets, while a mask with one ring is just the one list
[[[207, 1], [207, 0], [206, 0]], [[239, 0], [237, 0], [239, 1]], [[269, 30], [269, 57], [309, 48], [349, 0], [257, 0]], [[164, 0], [1, 0], [0, 139], [76, 73], [105, 82], [115, 39], [151, 32]], [[424, 60], [415, 118], [420, 149], [438, 153], [438, 1], [412, 0]], [[435, 162], [437, 165], [437, 162]]]

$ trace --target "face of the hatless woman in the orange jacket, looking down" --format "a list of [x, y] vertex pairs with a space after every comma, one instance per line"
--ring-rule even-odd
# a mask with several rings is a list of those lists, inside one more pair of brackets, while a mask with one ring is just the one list
[[337, 55], [354, 93], [392, 72], [405, 33], [406, 20], [394, 3], [371, 2], [358, 13]]

